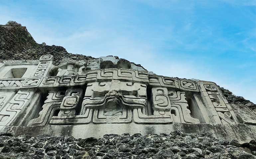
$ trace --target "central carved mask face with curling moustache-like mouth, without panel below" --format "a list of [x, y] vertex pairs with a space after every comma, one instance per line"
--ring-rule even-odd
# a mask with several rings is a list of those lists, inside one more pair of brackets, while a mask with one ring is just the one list
[[146, 103], [145, 84], [112, 80], [88, 83], [82, 106], [92, 109], [143, 108]]

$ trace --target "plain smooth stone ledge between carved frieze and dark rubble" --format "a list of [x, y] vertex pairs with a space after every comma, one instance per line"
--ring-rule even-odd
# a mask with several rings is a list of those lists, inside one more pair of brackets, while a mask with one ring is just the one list
[[[104, 130], [104, 131], [102, 131]], [[44, 125], [44, 126], [1, 126], [1, 132], [11, 132], [15, 136], [31, 135], [38, 136], [49, 134], [52, 136], [73, 136], [75, 138], [102, 137], [105, 134], [123, 134], [123, 133], [141, 133], [160, 134], [173, 131], [181, 131], [184, 133], [210, 133], [217, 139], [236, 139], [240, 143], [249, 142], [256, 139], [256, 126], [246, 124], [86, 124], [86, 125]]]

